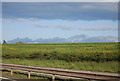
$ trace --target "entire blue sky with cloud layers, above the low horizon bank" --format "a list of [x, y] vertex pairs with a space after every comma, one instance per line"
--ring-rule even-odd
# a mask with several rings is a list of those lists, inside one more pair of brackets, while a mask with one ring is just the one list
[[70, 38], [82, 35], [88, 38], [118, 37], [117, 4], [2, 2], [2, 40], [25, 37], [32, 40]]

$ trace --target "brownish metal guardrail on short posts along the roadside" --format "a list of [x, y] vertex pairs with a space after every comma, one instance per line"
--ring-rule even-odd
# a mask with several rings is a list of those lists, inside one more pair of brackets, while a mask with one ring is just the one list
[[16, 64], [5, 64], [0, 63], [2, 68], [11, 69], [11, 75], [14, 70], [22, 70], [28, 72], [28, 78], [30, 78], [31, 72], [52, 74], [52, 79], [54, 81], [56, 75], [84, 78], [89, 80], [112, 80], [120, 81], [120, 74], [118, 73], [105, 73], [105, 72], [92, 72], [92, 71], [82, 71], [82, 70], [68, 70], [68, 69], [56, 69], [47, 67], [37, 67], [37, 66], [26, 66], [26, 65], [16, 65]]

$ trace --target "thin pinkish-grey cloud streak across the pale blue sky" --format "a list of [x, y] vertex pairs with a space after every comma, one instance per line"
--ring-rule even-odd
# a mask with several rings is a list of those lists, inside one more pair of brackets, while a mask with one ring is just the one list
[[65, 30], [72, 30], [72, 29], [79, 29], [79, 30], [118, 30], [117, 27], [81, 27], [81, 26], [71, 26], [71, 25], [48, 25], [48, 24], [34, 24], [33, 27], [36, 28], [59, 28], [59, 29], [65, 29]]

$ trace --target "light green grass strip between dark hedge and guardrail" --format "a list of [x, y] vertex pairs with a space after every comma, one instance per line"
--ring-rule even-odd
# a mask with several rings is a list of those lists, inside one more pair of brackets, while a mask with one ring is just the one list
[[88, 70], [98, 72], [118, 73], [119, 63], [116, 61], [110, 62], [66, 62], [62, 60], [38, 60], [38, 59], [3, 59], [3, 63], [21, 64], [29, 66], [53, 67], [62, 69]]

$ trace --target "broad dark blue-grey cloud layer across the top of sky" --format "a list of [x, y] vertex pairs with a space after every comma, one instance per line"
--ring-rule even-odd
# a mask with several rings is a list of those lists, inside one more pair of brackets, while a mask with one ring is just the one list
[[117, 20], [117, 2], [3, 2], [3, 18]]

